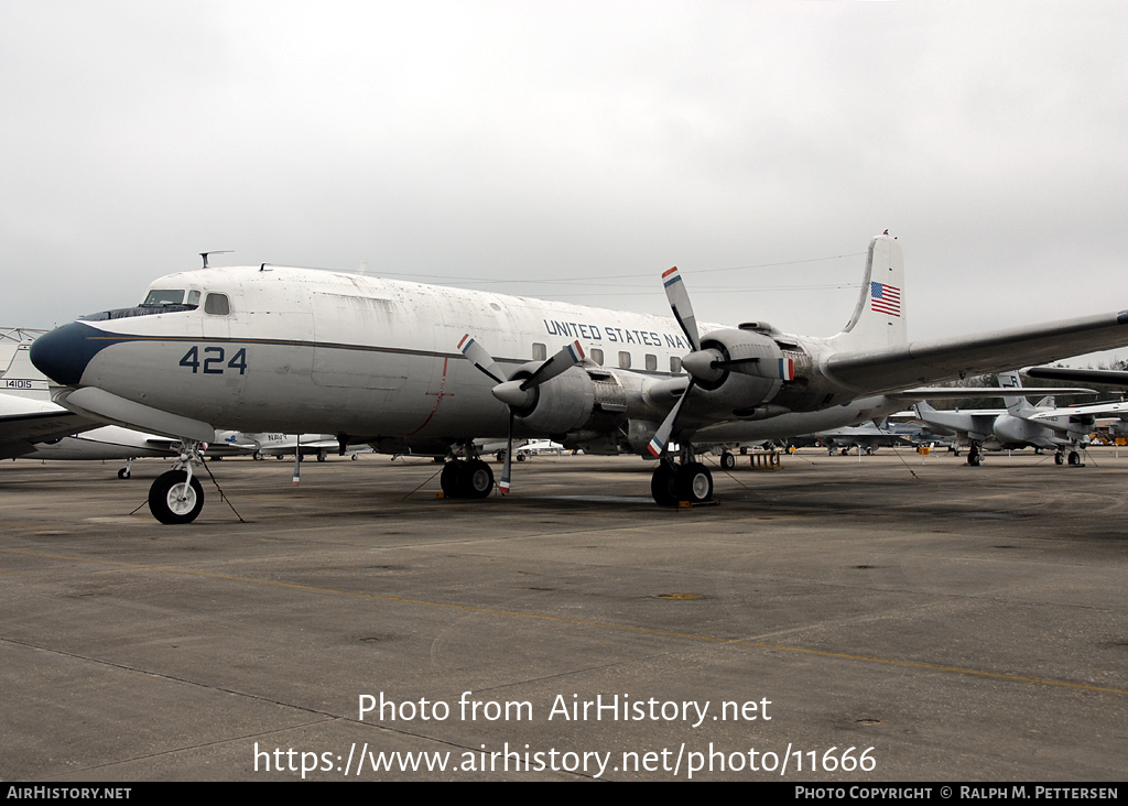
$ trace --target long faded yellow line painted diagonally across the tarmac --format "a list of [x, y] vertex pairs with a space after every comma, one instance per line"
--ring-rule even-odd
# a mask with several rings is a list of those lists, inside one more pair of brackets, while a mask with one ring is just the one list
[[765, 644], [763, 641], [743, 640], [740, 638], [717, 638], [716, 636], [703, 636], [694, 632], [673, 632], [671, 630], [656, 630], [651, 627], [635, 627], [633, 625], [616, 625], [607, 621], [588, 621], [584, 619], [567, 619], [559, 615], [543, 615], [540, 613], [526, 613], [518, 610], [496, 610], [494, 608], [482, 608], [473, 604], [452, 604], [450, 602], [430, 602], [424, 599], [405, 599], [404, 596], [389, 596], [380, 593], [363, 593], [361, 591], [341, 591], [333, 587], [318, 587], [316, 585], [299, 585], [292, 582], [277, 582], [274, 579], [255, 579], [246, 576], [230, 576], [228, 574], [214, 574], [211, 572], [192, 570], [188, 568], [173, 568], [169, 566], [151, 566], [136, 563], [122, 563], [120, 560], [99, 560], [86, 557], [69, 557], [67, 555], [51, 555], [39, 551], [27, 551], [25, 549], [0, 549], [0, 552], [27, 555], [30, 557], [44, 557], [47, 559], [70, 560], [72, 563], [90, 563], [117, 568], [136, 568], [141, 570], [159, 570], [169, 574], [185, 574], [187, 576], [199, 576], [209, 579], [229, 579], [231, 582], [246, 582], [253, 585], [270, 585], [273, 587], [289, 587], [298, 591], [311, 591], [314, 593], [332, 593], [342, 596], [358, 596], [361, 599], [374, 599], [385, 602], [398, 602], [400, 604], [422, 604], [431, 608], [447, 608], [450, 610], [465, 610], [473, 613], [488, 613], [491, 615], [510, 615], [522, 619], [540, 619], [541, 621], [553, 621], [562, 625], [578, 625], [581, 627], [598, 627], [608, 630], [620, 630], [624, 632], [638, 632], [641, 635], [666, 636], [670, 638], [685, 638], [695, 641], [707, 641], [711, 644], [734, 644], [738, 646], [750, 646], [759, 649], [774, 649], [777, 652], [794, 652], [818, 657], [841, 658], [844, 661], [861, 661], [864, 663], [883, 663], [891, 666], [905, 666], [909, 668], [926, 668], [933, 672], [949, 672], [952, 674], [970, 674], [994, 680], [1010, 680], [1020, 683], [1041, 683], [1042, 685], [1055, 685], [1064, 689], [1081, 689], [1084, 691], [1100, 691], [1105, 694], [1125, 694], [1123, 689], [1107, 689], [1100, 685], [1085, 685], [1084, 683], [1070, 683], [1064, 680], [1047, 680], [1046, 677], [1028, 677], [1021, 674], [1004, 674], [1002, 672], [984, 672], [976, 668], [962, 668], [960, 666], [944, 666], [935, 663], [922, 663], [919, 661], [897, 661], [888, 657], [871, 657], [869, 655], [851, 655], [848, 653], [829, 652], [826, 649], [805, 649], [796, 646], [785, 646], [782, 644]]

